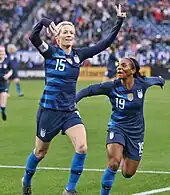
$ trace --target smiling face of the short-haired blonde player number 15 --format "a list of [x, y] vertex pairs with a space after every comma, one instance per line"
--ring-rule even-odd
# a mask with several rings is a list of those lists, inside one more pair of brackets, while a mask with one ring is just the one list
[[64, 25], [57, 37], [60, 46], [73, 46], [75, 40], [75, 29], [71, 25]]

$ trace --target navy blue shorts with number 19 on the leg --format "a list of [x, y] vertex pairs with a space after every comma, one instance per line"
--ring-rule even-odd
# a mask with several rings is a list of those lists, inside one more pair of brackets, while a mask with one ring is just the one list
[[143, 153], [144, 137], [141, 135], [140, 139], [133, 139], [122, 131], [109, 129], [107, 135], [107, 144], [119, 143], [124, 146], [123, 155], [139, 161]]

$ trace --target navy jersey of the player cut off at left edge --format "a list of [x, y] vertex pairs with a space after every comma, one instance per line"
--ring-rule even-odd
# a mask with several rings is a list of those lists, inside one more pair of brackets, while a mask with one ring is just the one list
[[6, 82], [3, 78], [11, 70], [11, 63], [8, 58], [5, 58], [3, 62], [0, 62], [0, 82]]

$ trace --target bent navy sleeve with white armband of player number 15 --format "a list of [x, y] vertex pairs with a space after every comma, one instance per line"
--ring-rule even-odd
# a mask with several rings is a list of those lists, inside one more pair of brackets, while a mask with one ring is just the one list
[[[43, 55], [45, 52], [48, 53], [49, 45], [45, 43], [40, 38], [40, 32], [43, 28], [49, 27], [49, 25], [52, 23], [52, 20], [48, 18], [42, 18], [33, 28], [32, 33], [30, 35], [30, 41], [31, 43], [38, 49], [38, 51]], [[44, 56], [44, 55], [43, 55]]]

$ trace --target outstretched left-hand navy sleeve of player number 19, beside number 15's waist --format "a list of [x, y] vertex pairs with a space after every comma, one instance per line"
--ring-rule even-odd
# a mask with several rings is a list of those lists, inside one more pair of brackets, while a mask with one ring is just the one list
[[85, 97], [90, 97], [95, 95], [109, 96], [112, 87], [113, 87], [113, 82], [105, 82], [105, 83], [90, 85], [89, 87], [80, 90], [76, 94], [76, 102], [79, 102], [81, 99]]

